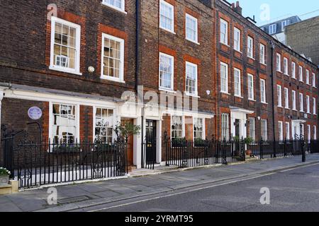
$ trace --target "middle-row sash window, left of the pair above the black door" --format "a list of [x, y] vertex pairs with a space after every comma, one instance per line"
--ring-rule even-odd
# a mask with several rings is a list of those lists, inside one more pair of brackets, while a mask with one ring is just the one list
[[174, 89], [174, 57], [159, 53], [159, 88]]

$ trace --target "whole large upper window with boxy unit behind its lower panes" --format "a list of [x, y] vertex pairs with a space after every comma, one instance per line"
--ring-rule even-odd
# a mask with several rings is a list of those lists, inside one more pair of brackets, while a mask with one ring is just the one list
[[81, 26], [51, 18], [50, 69], [79, 73]]

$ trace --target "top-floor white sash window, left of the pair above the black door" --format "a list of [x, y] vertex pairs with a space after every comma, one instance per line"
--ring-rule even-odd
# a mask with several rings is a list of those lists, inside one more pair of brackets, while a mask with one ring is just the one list
[[174, 32], [174, 6], [161, 0], [159, 6], [159, 28]]

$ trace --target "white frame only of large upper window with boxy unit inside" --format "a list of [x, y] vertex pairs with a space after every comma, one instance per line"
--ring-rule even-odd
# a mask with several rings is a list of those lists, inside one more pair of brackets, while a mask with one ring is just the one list
[[[69, 27], [75, 28], [76, 36], [75, 36], [75, 59], [74, 59], [74, 69], [69, 69], [62, 66], [54, 65], [54, 49], [55, 49], [55, 23], [62, 23]], [[67, 73], [74, 73], [79, 76], [82, 76], [80, 73], [80, 52], [81, 52], [81, 25], [76, 23], [71, 23], [67, 20], [63, 20], [61, 18], [57, 18], [55, 16], [51, 17], [51, 44], [50, 44], [50, 70], [62, 71]]]

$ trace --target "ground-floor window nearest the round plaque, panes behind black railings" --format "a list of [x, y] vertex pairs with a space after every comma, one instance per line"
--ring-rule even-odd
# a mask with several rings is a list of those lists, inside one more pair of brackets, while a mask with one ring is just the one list
[[52, 105], [52, 138], [54, 143], [75, 143], [78, 126], [76, 111], [75, 105]]

